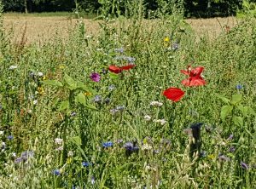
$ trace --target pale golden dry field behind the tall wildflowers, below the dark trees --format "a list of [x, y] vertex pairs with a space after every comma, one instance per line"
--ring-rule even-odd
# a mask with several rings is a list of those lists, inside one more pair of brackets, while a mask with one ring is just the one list
[[[66, 16], [25, 16], [22, 14], [6, 14], [4, 25], [9, 30], [14, 31], [14, 42], [20, 41], [26, 27], [26, 43], [44, 42], [58, 34], [61, 37], [67, 37], [67, 33], [78, 22]], [[84, 19], [86, 31], [90, 34], [96, 34], [99, 31], [99, 21]], [[154, 26], [157, 20], [145, 20], [145, 23]], [[212, 19], [188, 19], [186, 22], [192, 26], [198, 37], [208, 35], [217, 37], [226, 26], [230, 28], [236, 26], [237, 20], [234, 17], [212, 18]]]

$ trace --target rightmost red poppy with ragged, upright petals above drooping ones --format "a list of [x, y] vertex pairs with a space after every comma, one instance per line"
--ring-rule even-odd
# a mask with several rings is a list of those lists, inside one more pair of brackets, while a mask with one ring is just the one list
[[186, 78], [182, 81], [183, 85], [187, 87], [201, 86], [205, 85], [207, 82], [201, 77], [201, 72], [203, 72], [204, 67], [198, 66], [194, 69], [191, 69], [191, 66], [188, 66], [187, 71], [182, 70], [181, 72], [185, 75], [188, 75], [189, 78]]

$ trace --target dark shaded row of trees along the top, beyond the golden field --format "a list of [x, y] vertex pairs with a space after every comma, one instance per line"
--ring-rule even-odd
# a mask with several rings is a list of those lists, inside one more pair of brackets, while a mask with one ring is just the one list
[[[1, 1], [1, 0], [0, 0]], [[2, 0], [5, 12], [15, 11], [24, 13], [73, 11], [79, 8], [85, 13], [100, 13], [103, 5], [109, 4], [119, 11], [125, 11], [125, 3], [135, 0]], [[243, 0], [144, 0], [145, 12], [154, 12], [162, 9], [181, 5], [186, 17], [211, 17], [234, 15], [241, 9]], [[256, 3], [256, 0], [247, 0]], [[113, 9], [112, 9], [113, 10]]]

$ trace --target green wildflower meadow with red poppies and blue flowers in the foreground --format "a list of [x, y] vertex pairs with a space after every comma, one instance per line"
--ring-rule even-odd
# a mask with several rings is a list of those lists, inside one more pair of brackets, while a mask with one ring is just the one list
[[44, 43], [0, 15], [0, 188], [255, 188], [256, 20], [82, 20]]

